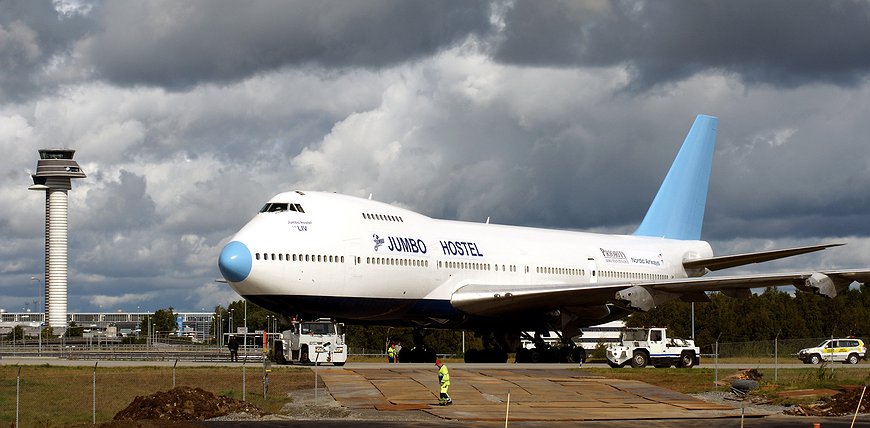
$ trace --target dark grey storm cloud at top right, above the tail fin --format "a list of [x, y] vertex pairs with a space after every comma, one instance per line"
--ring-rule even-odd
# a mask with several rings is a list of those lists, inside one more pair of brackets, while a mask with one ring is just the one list
[[495, 57], [542, 66], [626, 66], [645, 89], [695, 73], [747, 83], [853, 85], [870, 71], [870, 2], [535, 2], [504, 17]]

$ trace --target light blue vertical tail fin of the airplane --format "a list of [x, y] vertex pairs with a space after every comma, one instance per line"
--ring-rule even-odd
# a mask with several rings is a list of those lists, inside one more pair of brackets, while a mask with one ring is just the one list
[[715, 117], [698, 115], [695, 118], [635, 235], [701, 239], [718, 126], [719, 119]]

